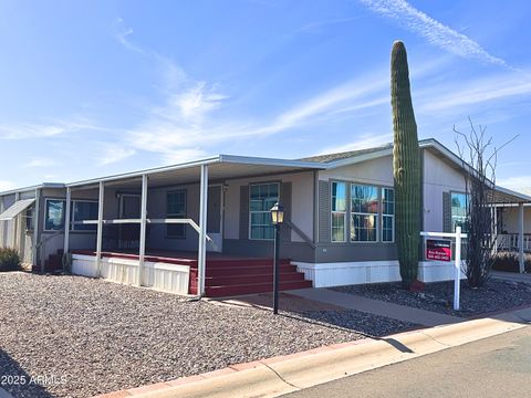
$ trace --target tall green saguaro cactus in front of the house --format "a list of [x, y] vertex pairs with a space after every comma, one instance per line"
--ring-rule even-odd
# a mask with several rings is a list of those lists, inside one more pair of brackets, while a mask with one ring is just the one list
[[407, 53], [400, 41], [393, 44], [391, 54], [391, 103], [394, 128], [396, 243], [402, 281], [409, 287], [418, 275], [420, 151], [409, 90]]

